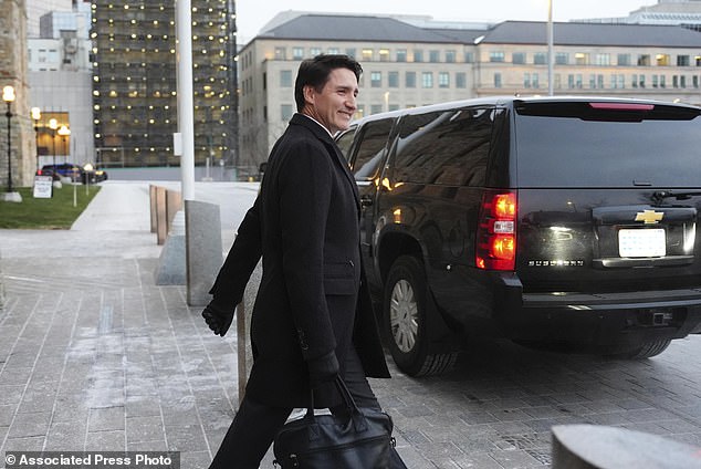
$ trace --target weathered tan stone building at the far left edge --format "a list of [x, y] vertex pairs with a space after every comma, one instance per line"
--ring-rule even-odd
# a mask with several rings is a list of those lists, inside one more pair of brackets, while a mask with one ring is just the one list
[[[27, 82], [27, 6], [25, 0], [0, 0], [0, 88], [14, 87], [11, 104], [10, 163], [12, 186], [31, 186], [36, 165], [34, 128], [30, 117]], [[7, 105], [0, 117], [0, 187], [8, 185]]]

